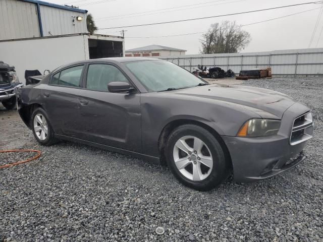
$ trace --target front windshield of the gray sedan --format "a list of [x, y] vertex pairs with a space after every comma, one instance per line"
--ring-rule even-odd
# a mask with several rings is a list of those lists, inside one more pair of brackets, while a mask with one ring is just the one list
[[166, 61], [138, 61], [125, 65], [149, 92], [206, 85], [200, 78]]

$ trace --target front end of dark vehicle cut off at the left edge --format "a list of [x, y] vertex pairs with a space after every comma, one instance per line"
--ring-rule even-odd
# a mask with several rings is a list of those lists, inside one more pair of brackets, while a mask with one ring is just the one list
[[16, 94], [23, 84], [19, 82], [14, 66], [0, 61], [0, 102], [6, 109], [16, 107]]

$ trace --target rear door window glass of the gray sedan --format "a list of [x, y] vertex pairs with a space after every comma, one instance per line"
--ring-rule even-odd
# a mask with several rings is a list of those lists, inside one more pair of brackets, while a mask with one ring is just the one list
[[77, 67], [71, 67], [71, 68], [61, 71], [58, 85], [79, 87], [83, 67], [84, 67], [84, 65], [77, 66]]

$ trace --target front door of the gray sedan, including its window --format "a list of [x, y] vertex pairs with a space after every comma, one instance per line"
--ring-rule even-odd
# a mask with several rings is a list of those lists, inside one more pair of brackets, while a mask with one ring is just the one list
[[131, 80], [114, 64], [89, 64], [79, 93], [84, 140], [141, 152], [140, 93], [110, 93], [110, 82]]

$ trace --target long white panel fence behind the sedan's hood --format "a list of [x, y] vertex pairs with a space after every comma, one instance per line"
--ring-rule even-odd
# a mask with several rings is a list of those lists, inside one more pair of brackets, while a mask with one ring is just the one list
[[197, 65], [231, 69], [235, 73], [253, 68], [272, 68], [275, 76], [323, 75], [323, 48], [275, 50], [251, 53], [193, 54], [160, 57], [192, 72]]

